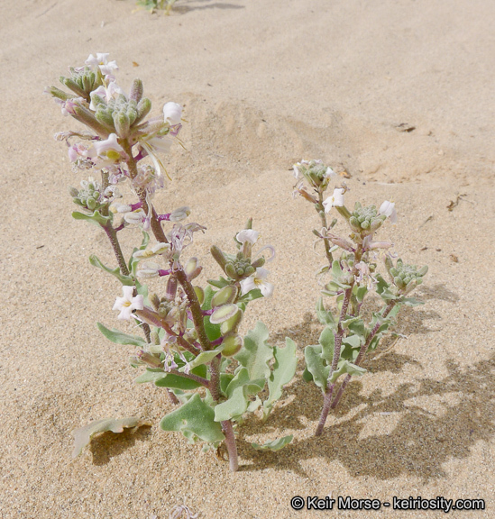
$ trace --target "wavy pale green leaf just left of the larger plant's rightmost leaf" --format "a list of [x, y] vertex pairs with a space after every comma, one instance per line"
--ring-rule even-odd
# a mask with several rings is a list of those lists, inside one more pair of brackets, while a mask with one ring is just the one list
[[273, 350], [266, 343], [268, 339], [268, 328], [258, 321], [254, 330], [244, 337], [244, 345], [241, 351], [234, 355], [234, 359], [247, 368], [249, 378], [269, 378], [269, 361], [273, 358]]

